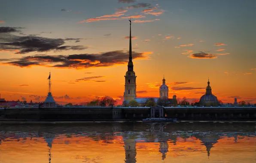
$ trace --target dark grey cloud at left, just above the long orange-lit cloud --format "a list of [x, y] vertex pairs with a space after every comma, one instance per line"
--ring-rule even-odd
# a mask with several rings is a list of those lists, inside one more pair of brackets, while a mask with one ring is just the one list
[[15, 54], [25, 54], [29, 52], [43, 52], [51, 50], [82, 50], [88, 47], [78, 46], [61, 46], [66, 40], [78, 40], [73, 38], [67, 39], [51, 39], [40, 36], [15, 36], [15, 35], [1, 35], [0, 36], [0, 50], [18, 50]]

